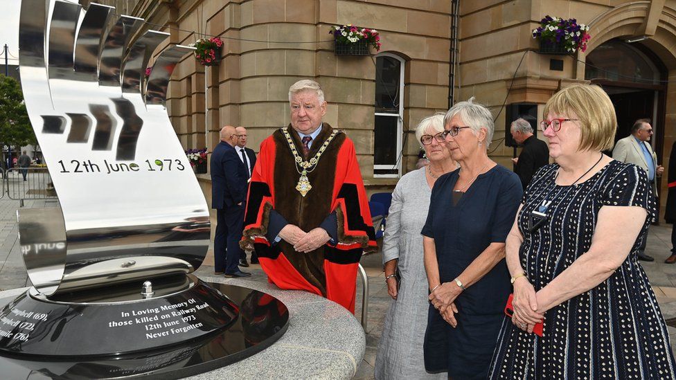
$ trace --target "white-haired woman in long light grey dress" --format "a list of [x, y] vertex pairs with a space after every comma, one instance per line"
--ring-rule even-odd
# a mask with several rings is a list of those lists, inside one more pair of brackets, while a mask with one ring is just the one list
[[[427, 276], [422, 261], [422, 235], [434, 181], [457, 168], [444, 139], [443, 114], [425, 118], [416, 137], [429, 165], [400, 179], [382, 243], [387, 292], [393, 298], [375, 358], [375, 379], [445, 379], [445, 374], [427, 374], [422, 361], [422, 341], [427, 326]], [[396, 269], [401, 274], [397, 289]]]

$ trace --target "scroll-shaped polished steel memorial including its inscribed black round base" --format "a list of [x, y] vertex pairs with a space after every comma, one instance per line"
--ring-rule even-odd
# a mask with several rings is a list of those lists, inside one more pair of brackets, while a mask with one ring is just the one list
[[60, 207], [18, 212], [33, 287], [0, 299], [3, 376], [185, 376], [287, 327], [276, 298], [190, 274], [208, 248], [208, 206], [166, 96], [192, 48], [153, 56], [169, 35], [143, 23], [96, 3], [21, 4], [21, 85]]

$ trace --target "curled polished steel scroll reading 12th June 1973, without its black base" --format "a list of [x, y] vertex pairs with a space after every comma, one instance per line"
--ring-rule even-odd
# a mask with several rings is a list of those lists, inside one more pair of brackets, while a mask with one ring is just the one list
[[164, 107], [193, 49], [155, 52], [145, 91], [168, 35], [132, 41], [143, 20], [114, 12], [21, 3], [21, 85], [60, 201], [19, 212], [26, 269], [46, 296], [190, 273], [208, 248], [208, 206]]

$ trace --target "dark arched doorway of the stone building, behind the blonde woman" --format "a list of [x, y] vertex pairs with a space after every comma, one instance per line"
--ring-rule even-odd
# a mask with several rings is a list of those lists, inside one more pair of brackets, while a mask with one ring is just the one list
[[664, 145], [666, 78], [661, 60], [641, 44], [610, 39], [587, 53], [585, 79], [608, 93], [615, 106], [615, 141], [629, 136], [634, 121], [650, 118], [655, 130], [652, 148], [661, 162]]

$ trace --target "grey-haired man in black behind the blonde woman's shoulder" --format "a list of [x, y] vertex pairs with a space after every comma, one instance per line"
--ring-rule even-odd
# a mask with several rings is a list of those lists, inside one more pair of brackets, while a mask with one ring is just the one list
[[515, 163], [514, 172], [519, 175], [521, 185], [526, 190], [526, 186], [533, 179], [533, 174], [549, 163], [549, 147], [547, 143], [533, 135], [531, 123], [522, 118], [513, 121], [510, 132], [514, 141], [522, 146], [521, 154], [512, 161]]

